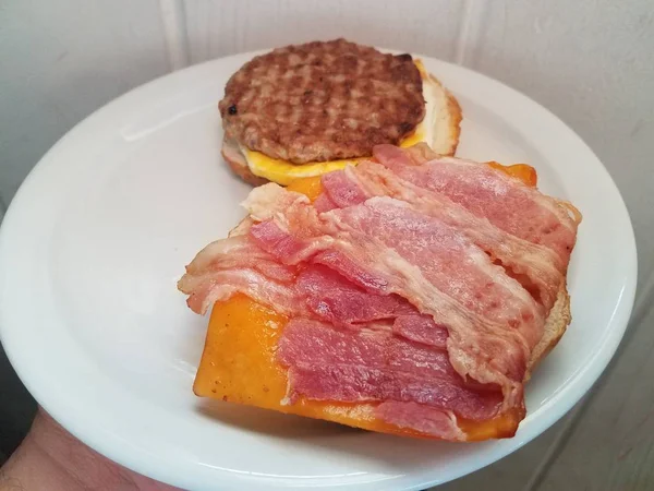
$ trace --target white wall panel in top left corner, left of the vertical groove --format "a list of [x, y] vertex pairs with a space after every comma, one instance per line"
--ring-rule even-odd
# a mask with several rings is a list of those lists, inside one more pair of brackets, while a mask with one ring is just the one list
[[0, 3], [0, 196], [88, 113], [169, 71], [156, 0]]

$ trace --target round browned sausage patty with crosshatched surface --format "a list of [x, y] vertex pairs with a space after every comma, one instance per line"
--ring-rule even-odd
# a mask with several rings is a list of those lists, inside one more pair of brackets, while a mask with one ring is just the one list
[[231, 76], [219, 108], [230, 137], [294, 164], [370, 156], [374, 145], [397, 145], [425, 115], [410, 55], [344, 39], [255, 57]]

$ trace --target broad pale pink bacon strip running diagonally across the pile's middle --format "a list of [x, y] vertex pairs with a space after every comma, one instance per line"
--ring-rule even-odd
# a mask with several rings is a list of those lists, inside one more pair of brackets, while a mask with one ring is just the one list
[[462, 308], [523, 333], [530, 346], [541, 338], [530, 325], [540, 316], [533, 299], [459, 230], [387, 197], [334, 214], [360, 237], [376, 238], [417, 265], [425, 279]]

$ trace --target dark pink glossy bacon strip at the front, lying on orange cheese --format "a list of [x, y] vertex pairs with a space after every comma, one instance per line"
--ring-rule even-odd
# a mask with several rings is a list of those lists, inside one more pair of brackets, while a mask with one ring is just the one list
[[501, 407], [497, 390], [469, 388], [447, 352], [387, 332], [343, 331], [308, 320], [291, 320], [277, 357], [289, 367], [292, 402], [413, 402], [473, 420], [494, 417]]

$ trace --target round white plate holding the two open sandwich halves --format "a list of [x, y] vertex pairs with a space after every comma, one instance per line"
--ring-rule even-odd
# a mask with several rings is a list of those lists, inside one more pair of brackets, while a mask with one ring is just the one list
[[195, 397], [206, 318], [175, 282], [243, 216], [217, 103], [252, 53], [167, 75], [101, 108], [41, 159], [0, 236], [0, 334], [36, 399], [100, 453], [185, 489], [421, 489], [513, 452], [600, 376], [633, 302], [637, 259], [608, 173], [561, 121], [498, 82], [424, 58], [464, 113], [458, 155], [526, 161], [584, 215], [573, 322], [528, 385], [510, 440], [416, 441]]

